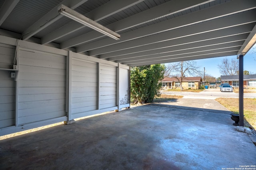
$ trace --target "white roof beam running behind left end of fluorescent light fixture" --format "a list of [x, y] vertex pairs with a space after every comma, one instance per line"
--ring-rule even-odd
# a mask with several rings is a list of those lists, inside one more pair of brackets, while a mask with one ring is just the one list
[[[64, 0], [60, 4], [63, 4], [65, 6], [68, 6], [71, 9], [75, 9], [87, 0]], [[28, 27], [23, 33], [22, 33], [22, 39], [27, 40], [42, 29], [48, 27], [48, 25], [54, 23], [58, 19], [62, 18], [62, 15], [59, 15], [58, 12], [58, 4], [55, 6], [50, 12], [48, 12], [46, 15], [44, 15], [40, 20], [36, 21], [33, 25]]]

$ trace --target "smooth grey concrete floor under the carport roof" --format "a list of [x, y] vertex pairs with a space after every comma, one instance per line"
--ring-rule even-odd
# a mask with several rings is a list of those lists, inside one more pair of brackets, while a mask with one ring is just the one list
[[171, 104], [133, 107], [2, 140], [0, 169], [221, 170], [256, 165], [256, 147], [246, 133], [236, 131], [229, 111]]

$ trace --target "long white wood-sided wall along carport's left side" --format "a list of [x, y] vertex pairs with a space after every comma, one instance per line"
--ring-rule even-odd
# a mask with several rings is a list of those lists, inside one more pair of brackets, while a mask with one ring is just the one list
[[0, 135], [130, 106], [128, 66], [2, 35], [0, 49]]

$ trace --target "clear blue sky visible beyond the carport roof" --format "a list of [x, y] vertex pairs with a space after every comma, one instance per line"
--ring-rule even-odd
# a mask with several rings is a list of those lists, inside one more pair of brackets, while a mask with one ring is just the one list
[[[256, 48], [256, 45], [254, 45]], [[253, 47], [253, 48], [254, 48]], [[253, 49], [252, 48], [252, 49]], [[248, 53], [244, 56], [244, 70], [249, 71], [250, 74], [256, 74], [256, 50], [248, 51]], [[206, 74], [209, 74], [214, 77], [220, 77], [221, 74], [218, 69], [218, 64], [221, 64], [222, 59], [225, 57], [216, 57], [210, 59], [200, 59], [195, 60], [198, 66], [201, 66], [202, 70], [206, 70]], [[236, 59], [236, 56], [228, 56], [230, 59]]]

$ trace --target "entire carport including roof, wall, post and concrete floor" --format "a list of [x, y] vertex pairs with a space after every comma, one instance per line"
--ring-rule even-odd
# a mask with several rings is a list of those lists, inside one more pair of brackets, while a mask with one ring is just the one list
[[[236, 55], [242, 81], [243, 57], [256, 42], [255, 8], [255, 0], [0, 0], [0, 135], [130, 107], [130, 66]], [[243, 117], [242, 89], [239, 93]], [[163, 108], [175, 114], [163, 114]], [[255, 165], [254, 145], [227, 125], [232, 122], [228, 112], [209, 120], [212, 110], [154, 109], [127, 109], [124, 115], [112, 113], [8, 139], [0, 146], [0, 167]], [[187, 119], [191, 125], [184, 123]], [[219, 128], [212, 128], [214, 123]], [[223, 136], [216, 137], [219, 130]]]

